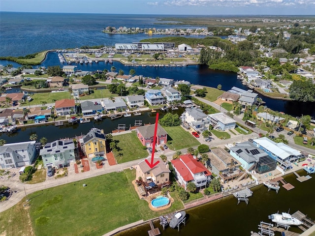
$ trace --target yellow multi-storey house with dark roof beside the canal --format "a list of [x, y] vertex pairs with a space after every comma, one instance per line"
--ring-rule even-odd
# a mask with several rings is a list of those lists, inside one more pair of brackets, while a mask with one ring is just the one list
[[106, 154], [106, 137], [104, 131], [93, 128], [80, 140], [81, 147], [87, 157], [95, 157]]

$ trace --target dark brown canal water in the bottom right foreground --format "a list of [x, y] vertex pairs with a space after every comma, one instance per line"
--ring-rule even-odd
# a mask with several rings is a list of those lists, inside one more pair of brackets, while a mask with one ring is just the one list
[[[302, 170], [300, 176], [307, 175]], [[295, 186], [292, 190], [285, 190], [281, 187], [279, 193], [263, 185], [252, 188], [253, 196], [249, 204], [237, 200], [233, 196], [225, 197], [206, 205], [194, 207], [186, 211], [188, 219], [186, 226], [182, 225], [180, 232], [177, 229], [163, 228], [159, 222], [155, 226], [160, 229], [161, 236], [250, 236], [250, 232], [258, 232], [257, 225], [260, 221], [272, 223], [268, 215], [279, 212], [292, 214], [300, 210], [308, 217], [315, 219], [315, 191], [310, 186], [315, 184], [315, 176], [305, 182], [296, 180], [294, 174], [284, 177], [285, 180]], [[149, 208], [148, 208], [149, 210]], [[148, 236], [149, 224], [133, 228], [118, 234], [118, 236]], [[290, 231], [302, 233], [297, 227], [291, 227]], [[276, 233], [276, 236], [281, 236]]]

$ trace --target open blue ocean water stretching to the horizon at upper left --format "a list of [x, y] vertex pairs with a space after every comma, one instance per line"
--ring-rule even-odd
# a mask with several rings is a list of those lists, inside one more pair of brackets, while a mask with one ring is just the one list
[[131, 43], [145, 38], [165, 36], [102, 33], [107, 26], [141, 29], [196, 28], [163, 25], [159, 20], [161, 17], [165, 16], [0, 12], [0, 56], [25, 56], [49, 49], [79, 48], [85, 45], [110, 46], [115, 43]]

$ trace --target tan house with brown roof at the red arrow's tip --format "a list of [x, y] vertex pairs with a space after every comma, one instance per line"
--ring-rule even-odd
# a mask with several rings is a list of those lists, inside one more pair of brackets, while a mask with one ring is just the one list
[[[150, 157], [151, 158], [151, 157]], [[148, 160], [149, 162], [151, 159]], [[145, 183], [154, 182], [155, 184], [163, 184], [169, 182], [169, 174], [167, 163], [164, 163], [161, 158], [154, 158], [153, 163], [158, 164], [151, 168], [145, 160], [139, 162], [134, 168], [136, 169], [136, 179], [141, 179]]]

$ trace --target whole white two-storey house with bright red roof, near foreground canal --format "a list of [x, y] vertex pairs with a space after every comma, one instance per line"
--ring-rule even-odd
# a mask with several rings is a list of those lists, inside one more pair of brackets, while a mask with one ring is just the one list
[[179, 159], [171, 160], [178, 182], [185, 187], [193, 182], [197, 188], [205, 188], [211, 180], [211, 172], [191, 154], [181, 155]]

